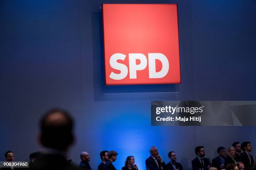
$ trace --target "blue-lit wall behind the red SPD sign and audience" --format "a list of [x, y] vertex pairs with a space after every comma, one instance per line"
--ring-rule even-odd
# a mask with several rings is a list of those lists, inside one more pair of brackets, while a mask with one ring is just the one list
[[[104, 85], [102, 3], [177, 3], [180, 85]], [[40, 149], [38, 120], [64, 107], [76, 120], [74, 163], [116, 150], [120, 170], [134, 155], [140, 169], [156, 145], [165, 161], [176, 150], [186, 169], [196, 145], [207, 157], [219, 145], [250, 140], [255, 127], [151, 127], [151, 100], [256, 100], [254, 0], [0, 1], [0, 160], [13, 150], [28, 160]], [[246, 135], [241, 135], [246, 134]], [[255, 152], [253, 152], [255, 153]]]

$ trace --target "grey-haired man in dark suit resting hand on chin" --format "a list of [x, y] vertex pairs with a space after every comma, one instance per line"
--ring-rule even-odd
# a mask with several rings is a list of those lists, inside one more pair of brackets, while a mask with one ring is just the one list
[[166, 164], [158, 153], [156, 147], [149, 149], [150, 157], [146, 159], [147, 170], [166, 170]]

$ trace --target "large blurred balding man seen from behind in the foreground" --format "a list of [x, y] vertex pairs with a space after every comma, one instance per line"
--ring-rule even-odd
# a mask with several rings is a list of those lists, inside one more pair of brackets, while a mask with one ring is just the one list
[[76, 170], [68, 163], [66, 153], [74, 141], [73, 120], [62, 109], [51, 109], [40, 122], [40, 142], [45, 152], [37, 158], [32, 170]]

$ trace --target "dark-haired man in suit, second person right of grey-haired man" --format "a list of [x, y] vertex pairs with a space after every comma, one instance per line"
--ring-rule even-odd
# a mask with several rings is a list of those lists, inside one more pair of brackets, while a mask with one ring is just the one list
[[205, 148], [203, 146], [197, 146], [195, 148], [195, 154], [197, 158], [192, 160], [192, 170], [208, 170], [211, 167], [210, 160], [204, 158]]

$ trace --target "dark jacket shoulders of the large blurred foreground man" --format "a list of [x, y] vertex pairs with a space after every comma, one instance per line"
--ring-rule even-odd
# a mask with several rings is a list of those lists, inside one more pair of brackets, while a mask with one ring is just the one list
[[37, 158], [31, 170], [79, 170], [63, 155], [47, 154]]

